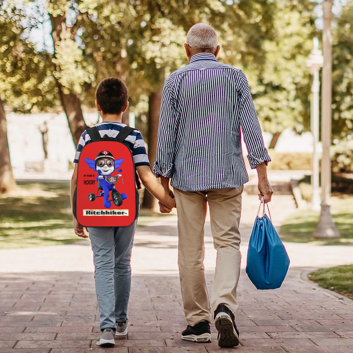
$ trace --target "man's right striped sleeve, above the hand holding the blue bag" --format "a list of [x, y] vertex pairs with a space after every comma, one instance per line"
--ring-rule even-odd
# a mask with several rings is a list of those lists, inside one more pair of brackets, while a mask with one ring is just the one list
[[244, 142], [247, 148], [247, 158], [251, 169], [256, 168], [260, 163], [266, 165], [271, 161], [265, 148], [261, 127], [252, 101], [249, 84], [245, 74], [240, 71], [240, 124], [243, 132]]

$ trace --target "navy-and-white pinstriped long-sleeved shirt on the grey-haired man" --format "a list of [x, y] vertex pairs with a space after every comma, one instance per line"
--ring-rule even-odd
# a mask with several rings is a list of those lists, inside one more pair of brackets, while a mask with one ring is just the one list
[[193, 55], [164, 83], [154, 173], [183, 191], [239, 187], [249, 181], [241, 131], [251, 168], [269, 162], [245, 74]]

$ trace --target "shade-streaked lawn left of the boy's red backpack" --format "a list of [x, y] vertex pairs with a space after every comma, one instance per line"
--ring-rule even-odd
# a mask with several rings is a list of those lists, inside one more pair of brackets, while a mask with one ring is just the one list
[[[11, 195], [0, 196], [0, 248], [72, 244], [68, 182], [18, 182]], [[81, 239], [82, 240], [82, 239]]]

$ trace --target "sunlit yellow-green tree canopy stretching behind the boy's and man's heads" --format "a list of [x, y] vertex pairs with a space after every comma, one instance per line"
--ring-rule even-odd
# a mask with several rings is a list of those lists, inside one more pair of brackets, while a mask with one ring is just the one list
[[[48, 16], [61, 16], [64, 20], [54, 55], [36, 53], [21, 37], [35, 27], [33, 9], [43, 1], [47, 13], [36, 13], [40, 21]], [[247, 75], [264, 130], [277, 132], [294, 127], [300, 131], [301, 124], [308, 125], [311, 79], [306, 58], [312, 49], [312, 37], [317, 35], [316, 2], [26, 0], [24, 5], [29, 4], [32, 9], [28, 13], [23, 6], [17, 8], [16, 1], [7, 4], [11, 5], [10, 22], [2, 33], [16, 37], [14, 47], [22, 57], [29, 56], [28, 65], [33, 72], [22, 70], [18, 86], [23, 85], [26, 92], [15, 92], [17, 84], [12, 83], [12, 78], [19, 73], [14, 72], [6, 73], [6, 79], [2, 79], [10, 80], [2, 91], [16, 97], [23, 95], [25, 111], [58, 105], [55, 79], [65, 93], [76, 92], [85, 105], [93, 107], [97, 83], [108, 76], [119, 76], [129, 87], [130, 109], [146, 114], [146, 104], [140, 101], [146, 101], [150, 92], [158, 90], [170, 72], [187, 64], [183, 47], [186, 33], [193, 24], [207, 22], [219, 34], [219, 59]], [[2, 38], [0, 48], [7, 42], [7, 38]], [[31, 62], [28, 50], [34, 52], [36, 63]], [[15, 66], [18, 60], [10, 61]], [[2, 65], [7, 68], [5, 65], [9, 64]], [[30, 74], [32, 77], [28, 77]], [[14, 98], [3, 98], [7, 104], [19, 105]]]

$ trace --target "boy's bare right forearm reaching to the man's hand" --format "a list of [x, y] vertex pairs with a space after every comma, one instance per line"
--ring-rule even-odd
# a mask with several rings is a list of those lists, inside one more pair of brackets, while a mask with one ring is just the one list
[[139, 178], [142, 181], [142, 184], [156, 199], [158, 199], [163, 205], [165, 205], [169, 209], [175, 207], [174, 198], [170, 196], [169, 191], [164, 189], [160, 181], [151, 172], [149, 166], [138, 166], [136, 167], [136, 170]]

